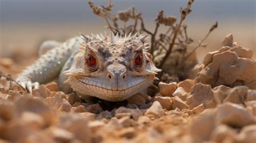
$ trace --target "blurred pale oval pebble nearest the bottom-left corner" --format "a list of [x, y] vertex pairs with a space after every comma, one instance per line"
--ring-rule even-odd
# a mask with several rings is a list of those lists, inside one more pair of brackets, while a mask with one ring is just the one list
[[21, 114], [21, 120], [25, 125], [35, 129], [41, 128], [44, 125], [44, 119], [41, 117], [41, 115], [33, 112], [23, 112]]

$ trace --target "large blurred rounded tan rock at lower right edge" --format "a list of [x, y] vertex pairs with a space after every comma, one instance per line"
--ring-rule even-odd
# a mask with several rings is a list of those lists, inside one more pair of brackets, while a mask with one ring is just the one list
[[242, 106], [233, 103], [224, 103], [218, 106], [216, 120], [220, 124], [233, 127], [244, 127], [255, 124], [254, 116]]

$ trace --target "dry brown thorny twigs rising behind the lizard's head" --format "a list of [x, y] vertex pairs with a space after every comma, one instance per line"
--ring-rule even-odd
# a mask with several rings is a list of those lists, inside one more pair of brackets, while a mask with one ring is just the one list
[[[198, 49], [198, 47], [201, 47], [204, 40], [215, 28], [217, 28], [216, 23], [212, 26], [211, 30], [207, 33], [204, 39], [201, 40], [199, 44], [193, 48], [193, 50], [189, 50], [189, 53], [187, 52], [187, 47], [189, 47], [189, 44], [193, 43], [193, 39], [188, 36], [187, 25], [183, 24], [183, 21], [192, 11], [191, 5], [193, 2], [193, 0], [188, 0], [186, 8], [180, 8], [179, 22], [177, 22], [176, 17], [165, 16], [164, 10], [160, 10], [155, 20], [154, 24], [156, 26], [153, 31], [146, 29], [142, 13], [137, 13], [134, 6], [132, 8], [118, 11], [116, 15], [112, 15], [111, 11], [113, 4], [111, 0], [109, 1], [109, 4], [107, 6], [95, 6], [90, 1], [89, 5], [95, 15], [105, 19], [107, 28], [113, 31], [115, 35], [118, 33], [119, 35], [124, 36], [125, 34], [129, 33], [142, 34], [144, 32], [149, 34], [151, 36], [149, 52], [151, 53], [151, 55], [153, 55], [154, 63], [156, 63], [158, 68], [163, 69], [163, 67], [165, 67], [166, 61], [172, 59], [170, 58], [170, 56], [172, 56], [171, 53], [178, 52], [178, 54], [180, 55], [179, 59], [175, 59], [177, 61], [174, 61], [172, 63], [179, 64], [175, 65], [175, 67], [178, 66], [176, 70], [181, 70], [179, 71], [180, 73], [184, 72], [182, 70], [184, 68], [182, 67], [186, 65], [184, 63], [188, 59], [188, 57], [190, 57], [192, 53]], [[123, 26], [120, 26], [120, 24], [123, 24]], [[159, 27], [161, 25], [167, 27], [164, 33], [159, 33]]]

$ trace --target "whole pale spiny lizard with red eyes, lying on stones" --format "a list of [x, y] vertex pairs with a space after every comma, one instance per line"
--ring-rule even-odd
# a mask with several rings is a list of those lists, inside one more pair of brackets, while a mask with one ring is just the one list
[[122, 101], [149, 87], [157, 69], [146, 51], [146, 36], [93, 35], [71, 38], [49, 49], [19, 74], [17, 81], [30, 92], [56, 79], [61, 91], [84, 99]]

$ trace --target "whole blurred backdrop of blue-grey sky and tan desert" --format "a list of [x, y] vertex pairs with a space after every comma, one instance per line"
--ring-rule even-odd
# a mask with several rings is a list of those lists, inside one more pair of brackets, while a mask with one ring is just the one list
[[[0, 0], [0, 58], [25, 60], [23, 57], [37, 56], [38, 46], [44, 40], [64, 41], [86, 34], [109, 31], [104, 19], [93, 15], [86, 0]], [[108, 1], [92, 1], [95, 5], [107, 5]], [[142, 12], [145, 26], [154, 28], [154, 19], [159, 10], [165, 15], [179, 18], [180, 6], [185, 8], [187, 0], [113, 0], [113, 13], [136, 6]], [[255, 0], [196, 0], [192, 12], [185, 19], [188, 35], [202, 39], [211, 25], [218, 21], [218, 28], [207, 38], [207, 47], [197, 50], [201, 61], [205, 53], [220, 48], [224, 37], [233, 33], [234, 41], [250, 47], [255, 59]]]

